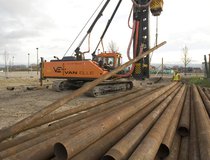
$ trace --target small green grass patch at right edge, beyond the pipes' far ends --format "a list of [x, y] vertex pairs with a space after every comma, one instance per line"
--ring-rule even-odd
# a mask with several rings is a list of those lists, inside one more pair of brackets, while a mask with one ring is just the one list
[[210, 79], [203, 77], [191, 77], [189, 79], [189, 84], [199, 85], [201, 87], [209, 87], [210, 88]]

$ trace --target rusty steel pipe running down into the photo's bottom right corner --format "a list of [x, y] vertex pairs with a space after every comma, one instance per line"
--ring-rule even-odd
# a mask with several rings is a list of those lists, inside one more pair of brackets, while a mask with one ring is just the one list
[[209, 116], [195, 85], [193, 85], [193, 102], [195, 110], [195, 120], [198, 133], [198, 144], [200, 148], [200, 158], [207, 160], [210, 157], [210, 123]]

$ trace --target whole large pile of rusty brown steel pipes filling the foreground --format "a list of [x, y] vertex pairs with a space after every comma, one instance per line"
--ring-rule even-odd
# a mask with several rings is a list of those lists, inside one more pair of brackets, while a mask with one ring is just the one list
[[34, 124], [50, 122], [47, 128], [36, 127], [35, 132], [1, 142], [0, 157], [207, 160], [210, 120], [205, 95], [200, 87], [171, 83], [136, 89], [48, 115], [47, 120]]

